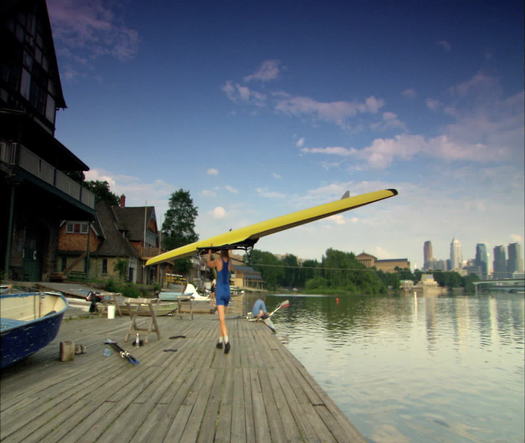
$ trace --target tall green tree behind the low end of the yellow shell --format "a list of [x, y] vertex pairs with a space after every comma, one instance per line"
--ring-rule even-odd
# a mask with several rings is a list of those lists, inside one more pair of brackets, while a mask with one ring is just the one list
[[[189, 191], [179, 189], [171, 194], [169, 209], [164, 215], [161, 230], [164, 249], [176, 249], [199, 239], [195, 232], [197, 215], [199, 211], [194, 206]], [[174, 267], [175, 272], [187, 274], [191, 268], [191, 262], [189, 259], [176, 260]]]

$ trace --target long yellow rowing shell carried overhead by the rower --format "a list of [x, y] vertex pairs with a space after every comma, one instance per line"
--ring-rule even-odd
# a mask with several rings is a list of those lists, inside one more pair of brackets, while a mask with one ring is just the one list
[[146, 266], [155, 265], [169, 260], [189, 257], [202, 249], [236, 249], [253, 246], [259, 238], [275, 234], [294, 226], [310, 223], [321, 218], [330, 217], [340, 212], [368, 205], [385, 198], [397, 195], [395, 189], [383, 189], [381, 191], [369, 192], [355, 197], [346, 197], [323, 205], [292, 212], [291, 214], [271, 218], [269, 220], [255, 223], [244, 228], [235, 229], [215, 237], [207, 238], [190, 243], [180, 248], [173, 249], [156, 257], [150, 258]]

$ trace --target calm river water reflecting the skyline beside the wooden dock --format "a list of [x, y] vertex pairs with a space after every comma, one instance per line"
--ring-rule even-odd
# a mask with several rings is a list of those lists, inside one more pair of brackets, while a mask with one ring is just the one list
[[267, 296], [278, 336], [375, 442], [523, 442], [523, 294]]

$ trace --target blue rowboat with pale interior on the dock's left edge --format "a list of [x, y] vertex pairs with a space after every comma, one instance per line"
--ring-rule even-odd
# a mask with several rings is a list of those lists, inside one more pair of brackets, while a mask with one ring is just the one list
[[58, 333], [67, 301], [62, 295], [0, 295], [0, 368], [26, 358]]

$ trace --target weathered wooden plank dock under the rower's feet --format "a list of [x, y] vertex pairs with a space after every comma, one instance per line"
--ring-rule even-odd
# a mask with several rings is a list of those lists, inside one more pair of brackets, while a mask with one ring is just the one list
[[[229, 319], [226, 355], [212, 315], [158, 322], [161, 339], [136, 349], [123, 343], [128, 317], [64, 321], [49, 346], [2, 371], [1, 441], [365, 441], [262, 323]], [[105, 357], [106, 337], [141, 363]], [[58, 361], [63, 340], [87, 353]]]

